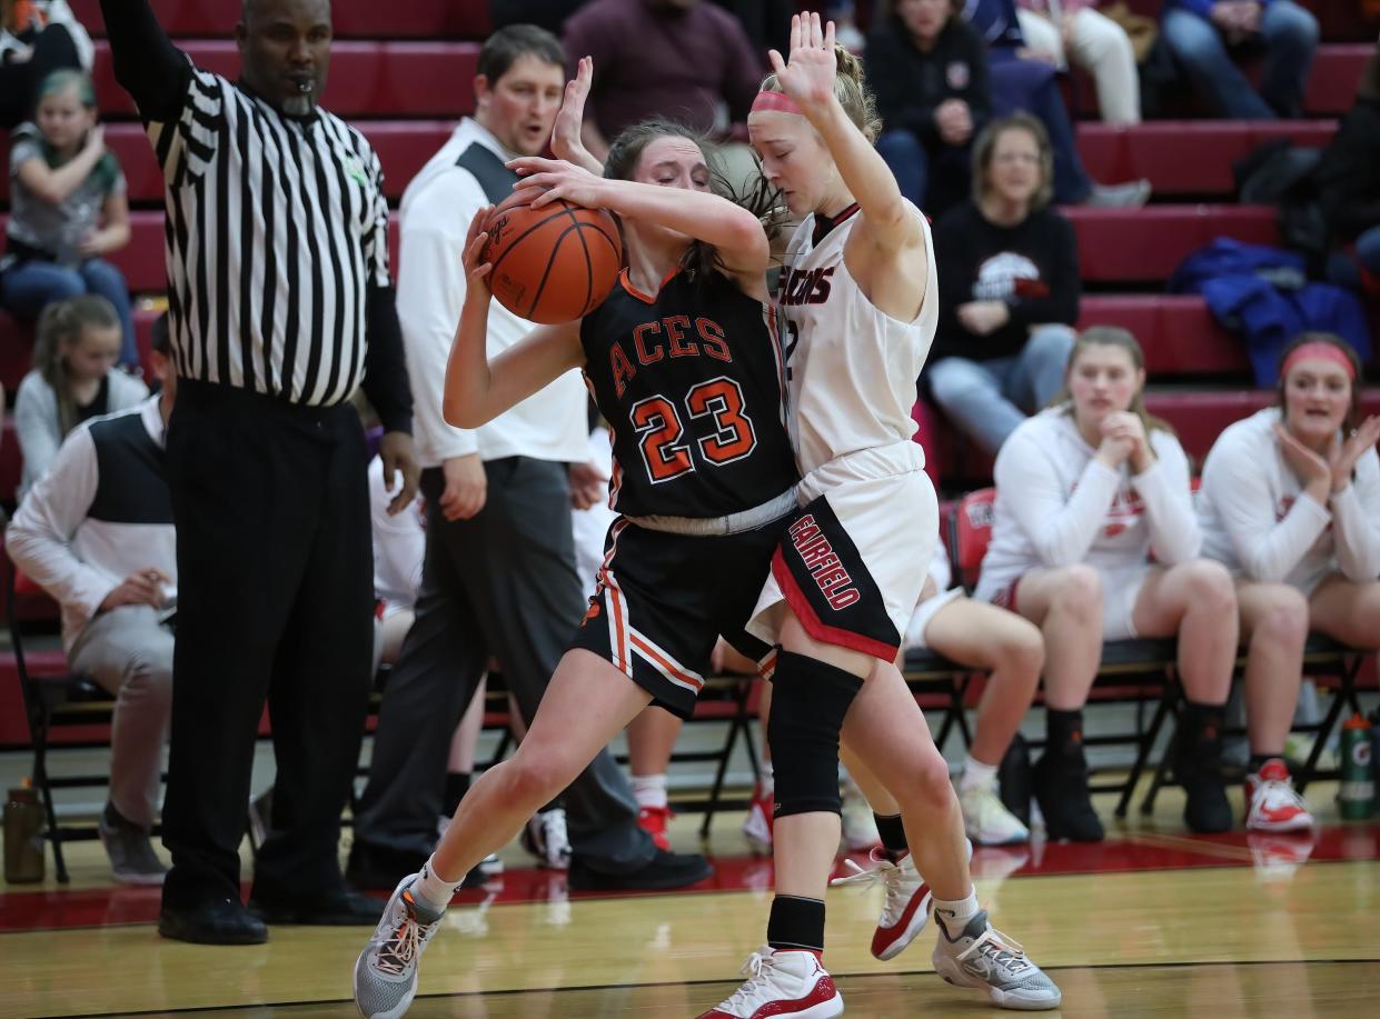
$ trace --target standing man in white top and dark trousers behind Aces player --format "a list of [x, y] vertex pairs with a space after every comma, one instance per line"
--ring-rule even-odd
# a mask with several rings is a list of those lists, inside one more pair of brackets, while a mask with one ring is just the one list
[[[475, 117], [460, 123], [403, 194], [397, 307], [428, 549], [417, 619], [384, 691], [356, 812], [356, 884], [391, 888], [431, 854], [450, 736], [489, 658], [502, 665], [530, 720], [585, 609], [570, 510], [571, 502], [604, 498], [606, 478], [585, 463], [580, 372], [472, 432], [447, 425], [440, 407], [465, 298], [469, 223], [512, 193], [518, 175], [505, 163], [545, 148], [563, 87], [564, 54], [553, 36], [531, 25], [495, 32], [479, 57]], [[495, 305], [489, 356], [531, 328]], [[700, 858], [660, 854], [638, 827], [632, 790], [607, 751], [571, 786], [566, 814], [571, 887], [672, 887], [707, 873]]]

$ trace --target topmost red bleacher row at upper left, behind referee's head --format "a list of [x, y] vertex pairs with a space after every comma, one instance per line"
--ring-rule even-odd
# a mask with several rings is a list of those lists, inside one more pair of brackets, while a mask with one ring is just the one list
[[[92, 36], [105, 34], [99, 0], [70, 0]], [[159, 23], [170, 36], [229, 39], [239, 4], [229, 0], [152, 0]], [[331, 28], [337, 39], [483, 39], [493, 30], [487, 0], [334, 0]]]

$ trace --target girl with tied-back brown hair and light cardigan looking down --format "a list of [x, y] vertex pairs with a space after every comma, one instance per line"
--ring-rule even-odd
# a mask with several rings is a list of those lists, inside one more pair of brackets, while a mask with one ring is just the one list
[[120, 319], [94, 294], [58, 301], [39, 317], [33, 371], [14, 403], [14, 427], [23, 455], [19, 499], [43, 477], [62, 438], [77, 425], [138, 404], [149, 394], [134, 375], [115, 367]]

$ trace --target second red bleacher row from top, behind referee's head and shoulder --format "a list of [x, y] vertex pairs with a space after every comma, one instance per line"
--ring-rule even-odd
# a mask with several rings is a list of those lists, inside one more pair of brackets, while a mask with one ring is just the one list
[[[206, 70], [236, 77], [240, 55], [230, 40], [184, 47]], [[477, 43], [335, 43], [323, 105], [342, 117], [458, 117], [475, 106]], [[134, 116], [134, 101], [115, 80], [110, 47], [95, 44], [97, 102], [106, 114]]]

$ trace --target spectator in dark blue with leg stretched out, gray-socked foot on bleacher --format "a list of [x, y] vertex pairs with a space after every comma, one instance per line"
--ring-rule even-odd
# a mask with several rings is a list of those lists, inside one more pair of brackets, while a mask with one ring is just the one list
[[1031, 57], [1016, 17], [1014, 0], [954, 3], [962, 7], [963, 18], [987, 41], [992, 113], [1007, 116], [1025, 110], [1045, 125], [1054, 156], [1054, 201], [1061, 205], [1144, 205], [1150, 200], [1150, 181], [1105, 185], [1087, 175], [1054, 66]]

